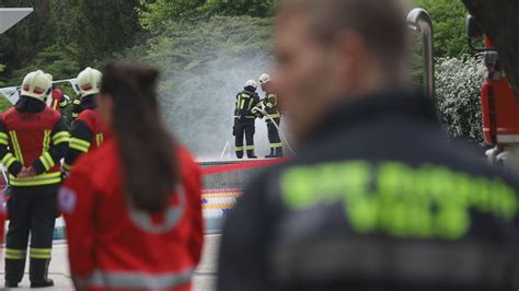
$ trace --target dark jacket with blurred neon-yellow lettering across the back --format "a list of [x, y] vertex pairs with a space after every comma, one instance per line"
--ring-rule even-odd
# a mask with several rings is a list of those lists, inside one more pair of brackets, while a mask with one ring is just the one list
[[519, 185], [448, 141], [432, 100], [350, 101], [309, 137], [230, 213], [218, 290], [517, 289]]

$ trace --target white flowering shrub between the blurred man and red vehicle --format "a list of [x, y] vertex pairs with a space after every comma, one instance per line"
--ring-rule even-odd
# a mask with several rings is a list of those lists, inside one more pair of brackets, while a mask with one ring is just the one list
[[484, 72], [481, 57], [437, 59], [436, 98], [439, 118], [453, 138], [483, 143], [481, 85]]

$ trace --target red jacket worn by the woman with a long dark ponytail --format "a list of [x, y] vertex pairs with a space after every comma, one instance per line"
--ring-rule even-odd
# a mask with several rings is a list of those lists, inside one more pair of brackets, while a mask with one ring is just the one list
[[59, 194], [77, 289], [191, 290], [204, 240], [198, 165], [187, 150], [177, 150], [183, 185], [168, 220], [129, 210], [118, 154], [112, 138], [82, 155]]

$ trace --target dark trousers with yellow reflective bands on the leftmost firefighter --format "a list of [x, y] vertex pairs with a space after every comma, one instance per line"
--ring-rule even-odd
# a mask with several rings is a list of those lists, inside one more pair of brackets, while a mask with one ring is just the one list
[[22, 281], [30, 234], [31, 282], [47, 279], [58, 213], [58, 187], [59, 185], [11, 187], [8, 201], [10, 221], [5, 238], [5, 281]]

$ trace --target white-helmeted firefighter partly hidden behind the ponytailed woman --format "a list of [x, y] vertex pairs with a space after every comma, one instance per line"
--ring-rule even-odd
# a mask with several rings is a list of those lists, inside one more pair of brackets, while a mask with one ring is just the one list
[[82, 112], [70, 130], [70, 149], [65, 156], [64, 170], [69, 172], [76, 160], [83, 153], [101, 147], [105, 137], [105, 126], [95, 112], [95, 96], [101, 90], [103, 74], [95, 69], [86, 68], [78, 75], [78, 86]]

